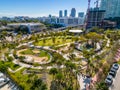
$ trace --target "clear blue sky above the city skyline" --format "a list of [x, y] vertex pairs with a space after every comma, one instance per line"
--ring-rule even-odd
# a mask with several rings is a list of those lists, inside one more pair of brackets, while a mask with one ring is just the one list
[[[41, 17], [58, 16], [59, 10], [68, 10], [76, 8], [78, 12], [86, 12], [88, 0], [0, 0], [0, 17], [1, 16], [29, 16]], [[92, 0], [91, 6], [94, 5]], [[76, 14], [77, 14], [76, 13]]]

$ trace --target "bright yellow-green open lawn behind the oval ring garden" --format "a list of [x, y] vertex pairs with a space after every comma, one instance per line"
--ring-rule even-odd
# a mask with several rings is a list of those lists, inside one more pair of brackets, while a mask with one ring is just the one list
[[34, 45], [36, 46], [56, 46], [56, 45], [61, 45], [61, 44], [65, 44], [65, 43], [69, 43], [72, 42], [72, 39], [63, 39], [60, 37], [55, 38], [55, 42], [53, 42], [52, 38], [50, 39], [45, 39], [45, 42], [43, 40], [40, 40], [37, 43], [34, 43]]

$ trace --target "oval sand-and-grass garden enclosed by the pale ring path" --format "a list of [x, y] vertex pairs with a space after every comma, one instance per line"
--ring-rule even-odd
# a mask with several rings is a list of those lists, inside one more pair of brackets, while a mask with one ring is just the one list
[[31, 63], [47, 62], [51, 58], [50, 54], [44, 50], [30, 48], [18, 50], [17, 55], [24, 56], [26, 59], [29, 59], [28, 61], [31, 61]]

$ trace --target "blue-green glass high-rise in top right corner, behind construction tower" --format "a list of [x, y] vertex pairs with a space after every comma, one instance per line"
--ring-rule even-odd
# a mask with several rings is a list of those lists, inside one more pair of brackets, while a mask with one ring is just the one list
[[101, 0], [101, 10], [105, 10], [105, 18], [120, 17], [120, 0]]

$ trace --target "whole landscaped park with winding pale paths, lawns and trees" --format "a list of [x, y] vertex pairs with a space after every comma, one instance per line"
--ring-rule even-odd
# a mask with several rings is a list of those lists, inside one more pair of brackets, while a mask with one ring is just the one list
[[[10, 49], [0, 65], [7, 68], [0, 69], [3, 71], [7, 69], [10, 77], [23, 90], [46, 88], [45, 84], [48, 90], [78, 90], [80, 86], [77, 75], [94, 78], [98, 74], [97, 81], [104, 80], [113, 63], [115, 48], [119, 47], [116, 44], [119, 40], [119, 33], [112, 31], [105, 31], [104, 34], [88, 32], [81, 36], [70, 34], [68, 36], [65, 33], [33, 34], [30, 38], [25, 39], [27, 43], [32, 41], [32, 48], [30, 48], [30, 44], [22, 46], [22, 39], [19, 41], [21, 44], [19, 48], [17, 47], [18, 41], [15, 42], [15, 47], [12, 46], [13, 44], [5, 44]], [[99, 44], [99, 50], [96, 52], [97, 44]], [[75, 49], [76, 45], [82, 47], [82, 50]], [[36, 62], [48, 62], [49, 60], [51, 60], [49, 63], [36, 64]], [[32, 63], [25, 63], [25, 61]], [[16, 64], [16, 62], [18, 63]], [[17, 69], [18, 71], [16, 71]], [[100, 70], [102, 71], [99, 73]], [[102, 74], [103, 72], [104, 74]], [[36, 84], [35, 81], [41, 83]], [[38, 88], [35, 89], [35, 87]]]

